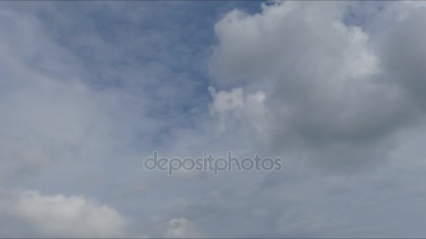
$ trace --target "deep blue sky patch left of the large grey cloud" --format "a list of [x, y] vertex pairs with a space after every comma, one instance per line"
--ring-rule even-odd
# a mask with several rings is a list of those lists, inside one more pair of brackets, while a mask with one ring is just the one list
[[[93, 89], [147, 95], [153, 99], [148, 114], [163, 119], [205, 113], [214, 24], [234, 8], [261, 10], [261, 1], [49, 4], [38, 15], [57, 43], [78, 57], [83, 80]], [[172, 92], [179, 97], [168, 97]]]

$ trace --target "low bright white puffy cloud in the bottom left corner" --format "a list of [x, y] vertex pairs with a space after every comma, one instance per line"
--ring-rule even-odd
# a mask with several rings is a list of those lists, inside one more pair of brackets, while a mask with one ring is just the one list
[[[84, 196], [46, 196], [39, 191], [2, 191], [0, 218], [18, 220], [28, 236], [115, 238], [128, 222], [114, 208]], [[3, 236], [8, 235], [7, 229]]]

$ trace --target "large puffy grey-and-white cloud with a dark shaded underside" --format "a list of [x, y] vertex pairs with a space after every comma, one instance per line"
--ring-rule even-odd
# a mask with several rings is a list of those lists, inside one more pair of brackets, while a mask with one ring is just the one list
[[[385, 158], [373, 151], [392, 145], [392, 134], [419, 115], [389, 78], [397, 67], [383, 64], [401, 56], [382, 59], [362, 27], [345, 24], [348, 4], [286, 1], [256, 15], [234, 10], [215, 25], [220, 44], [210, 65], [215, 84], [264, 92], [272, 116], [263, 128], [275, 150], [293, 150], [298, 141], [343, 170]], [[406, 57], [422, 62], [408, 51]]]

